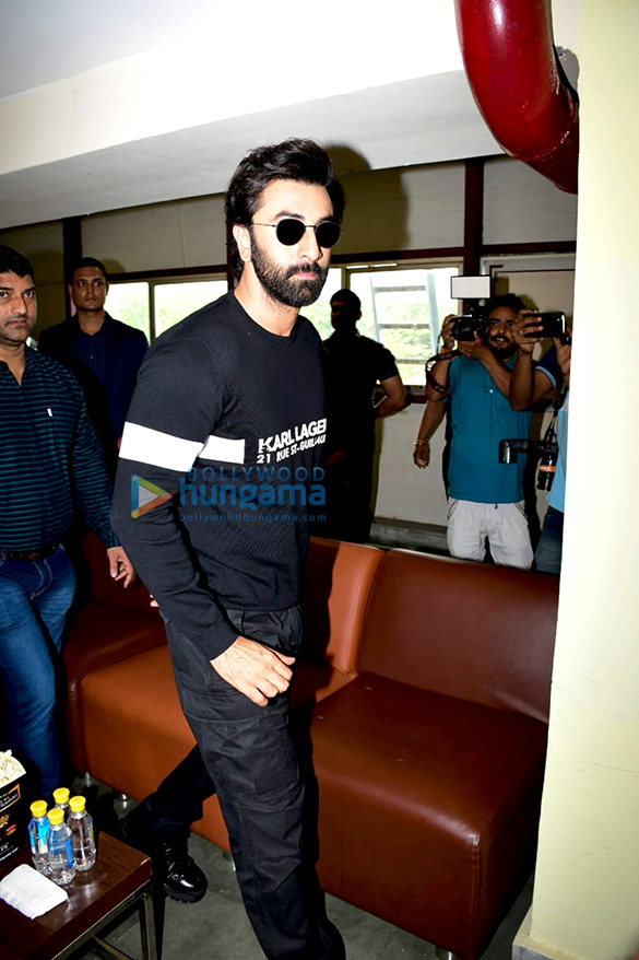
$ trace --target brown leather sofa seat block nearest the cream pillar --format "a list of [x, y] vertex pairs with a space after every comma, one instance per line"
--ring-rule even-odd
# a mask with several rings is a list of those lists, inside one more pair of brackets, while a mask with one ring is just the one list
[[475, 957], [533, 867], [546, 726], [363, 674], [311, 733], [322, 885]]

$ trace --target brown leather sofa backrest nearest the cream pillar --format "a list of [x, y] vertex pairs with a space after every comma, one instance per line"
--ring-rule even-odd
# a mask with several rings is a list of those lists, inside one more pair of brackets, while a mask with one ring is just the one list
[[557, 577], [390, 550], [357, 670], [547, 723]]

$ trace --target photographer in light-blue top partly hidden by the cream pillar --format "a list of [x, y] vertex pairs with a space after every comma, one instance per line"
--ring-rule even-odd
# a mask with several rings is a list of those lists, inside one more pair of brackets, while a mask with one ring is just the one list
[[[535, 364], [532, 353], [542, 340], [543, 327], [535, 317], [523, 314], [512, 328], [518, 347], [510, 378], [510, 403], [513, 410], [525, 410], [543, 399], [549, 390], [565, 386], [565, 396], [557, 413], [559, 456], [553, 485], [547, 495], [548, 508], [540, 542], [535, 550], [535, 569], [558, 574], [561, 569], [564, 540], [564, 502], [566, 494], [566, 455], [568, 449], [568, 387], [570, 386], [570, 342], [553, 337], [553, 347]], [[569, 337], [566, 338], [569, 341]], [[559, 401], [561, 397], [559, 397]]]

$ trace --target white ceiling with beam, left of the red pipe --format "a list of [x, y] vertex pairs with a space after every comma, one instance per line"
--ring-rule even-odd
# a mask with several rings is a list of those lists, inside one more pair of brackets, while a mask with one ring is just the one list
[[0, 227], [221, 192], [247, 150], [289, 136], [344, 172], [500, 152], [452, 0], [405, 0], [392, 23], [354, 0], [3, 7]]

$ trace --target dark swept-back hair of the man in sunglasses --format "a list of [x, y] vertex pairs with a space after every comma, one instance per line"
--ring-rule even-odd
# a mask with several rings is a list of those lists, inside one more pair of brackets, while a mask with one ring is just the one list
[[344, 191], [335, 177], [333, 162], [326, 150], [312, 140], [291, 139], [272, 147], [258, 147], [241, 161], [226, 191], [224, 210], [230, 248], [230, 262], [236, 277], [241, 277], [244, 262], [232, 234], [235, 223], [249, 226], [260, 199], [273, 180], [297, 180], [326, 187], [333, 204], [333, 220], [342, 221]]

